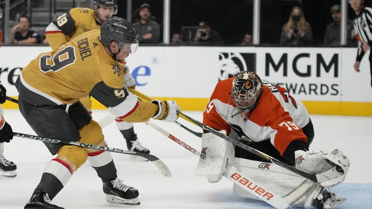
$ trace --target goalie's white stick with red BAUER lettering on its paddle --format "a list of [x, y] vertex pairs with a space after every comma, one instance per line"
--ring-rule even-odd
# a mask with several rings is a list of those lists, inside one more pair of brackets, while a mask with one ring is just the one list
[[[155, 125], [155, 123], [148, 120], [146, 122], [147, 125], [150, 125], [155, 130], [159, 131], [160, 133], [164, 134], [168, 138], [172, 139], [177, 144], [181, 145], [185, 149], [189, 150], [193, 154], [200, 156], [201, 153], [192, 148], [190, 145], [186, 144], [185, 142], [181, 141], [177, 137], [169, 134], [164, 129], [160, 128], [159, 126]], [[295, 202], [297, 202], [302, 196], [304, 196], [314, 185], [316, 184], [314, 181], [311, 181], [309, 179], [306, 179], [303, 183], [301, 183], [298, 187], [296, 187], [292, 192], [289, 192], [285, 196], [280, 196], [278, 194], [275, 194], [274, 192], [270, 191], [269, 189], [260, 186], [259, 183], [255, 182], [251, 178], [248, 178], [244, 176], [243, 173], [240, 173], [235, 168], [233, 168], [231, 165], [227, 164], [227, 172], [224, 174], [224, 176], [232, 181], [234, 184], [240, 186], [244, 190], [250, 192], [254, 196], [258, 197], [259, 199], [263, 200], [264, 202], [269, 203], [275, 208], [289, 208], [291, 205], [293, 205]], [[248, 182], [250, 184], [248, 184]], [[256, 185], [255, 187], [251, 186], [248, 187], [246, 185]], [[254, 188], [254, 189], [251, 189]], [[257, 188], [257, 189], [256, 189]]]

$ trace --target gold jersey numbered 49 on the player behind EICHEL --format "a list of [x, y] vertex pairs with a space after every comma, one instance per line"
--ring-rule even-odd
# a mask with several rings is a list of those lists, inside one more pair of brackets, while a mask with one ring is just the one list
[[57, 50], [78, 35], [99, 29], [100, 23], [94, 18], [95, 12], [89, 8], [73, 8], [49, 24], [45, 31], [49, 45]]

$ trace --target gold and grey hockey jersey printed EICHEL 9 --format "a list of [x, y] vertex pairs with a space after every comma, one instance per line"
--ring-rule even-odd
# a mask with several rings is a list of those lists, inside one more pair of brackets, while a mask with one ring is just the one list
[[145, 122], [159, 110], [125, 88], [126, 67], [99, 41], [100, 30], [77, 36], [60, 49], [41, 53], [20, 73], [19, 96], [29, 103], [70, 105], [90, 94], [127, 122]]

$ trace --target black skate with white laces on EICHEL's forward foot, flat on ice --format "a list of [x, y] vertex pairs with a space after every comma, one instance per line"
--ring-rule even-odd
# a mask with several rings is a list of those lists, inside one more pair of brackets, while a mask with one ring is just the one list
[[102, 179], [103, 192], [106, 194], [106, 200], [109, 203], [125, 204], [125, 205], [140, 205], [138, 199], [138, 190], [126, 186], [122, 183], [123, 180], [118, 178]]

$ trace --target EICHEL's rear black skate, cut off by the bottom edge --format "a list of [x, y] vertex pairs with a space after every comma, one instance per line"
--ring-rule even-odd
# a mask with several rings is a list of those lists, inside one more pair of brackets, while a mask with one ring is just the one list
[[30, 201], [25, 205], [25, 209], [64, 209], [57, 205], [50, 204], [48, 194], [41, 190], [35, 190], [32, 194]]

